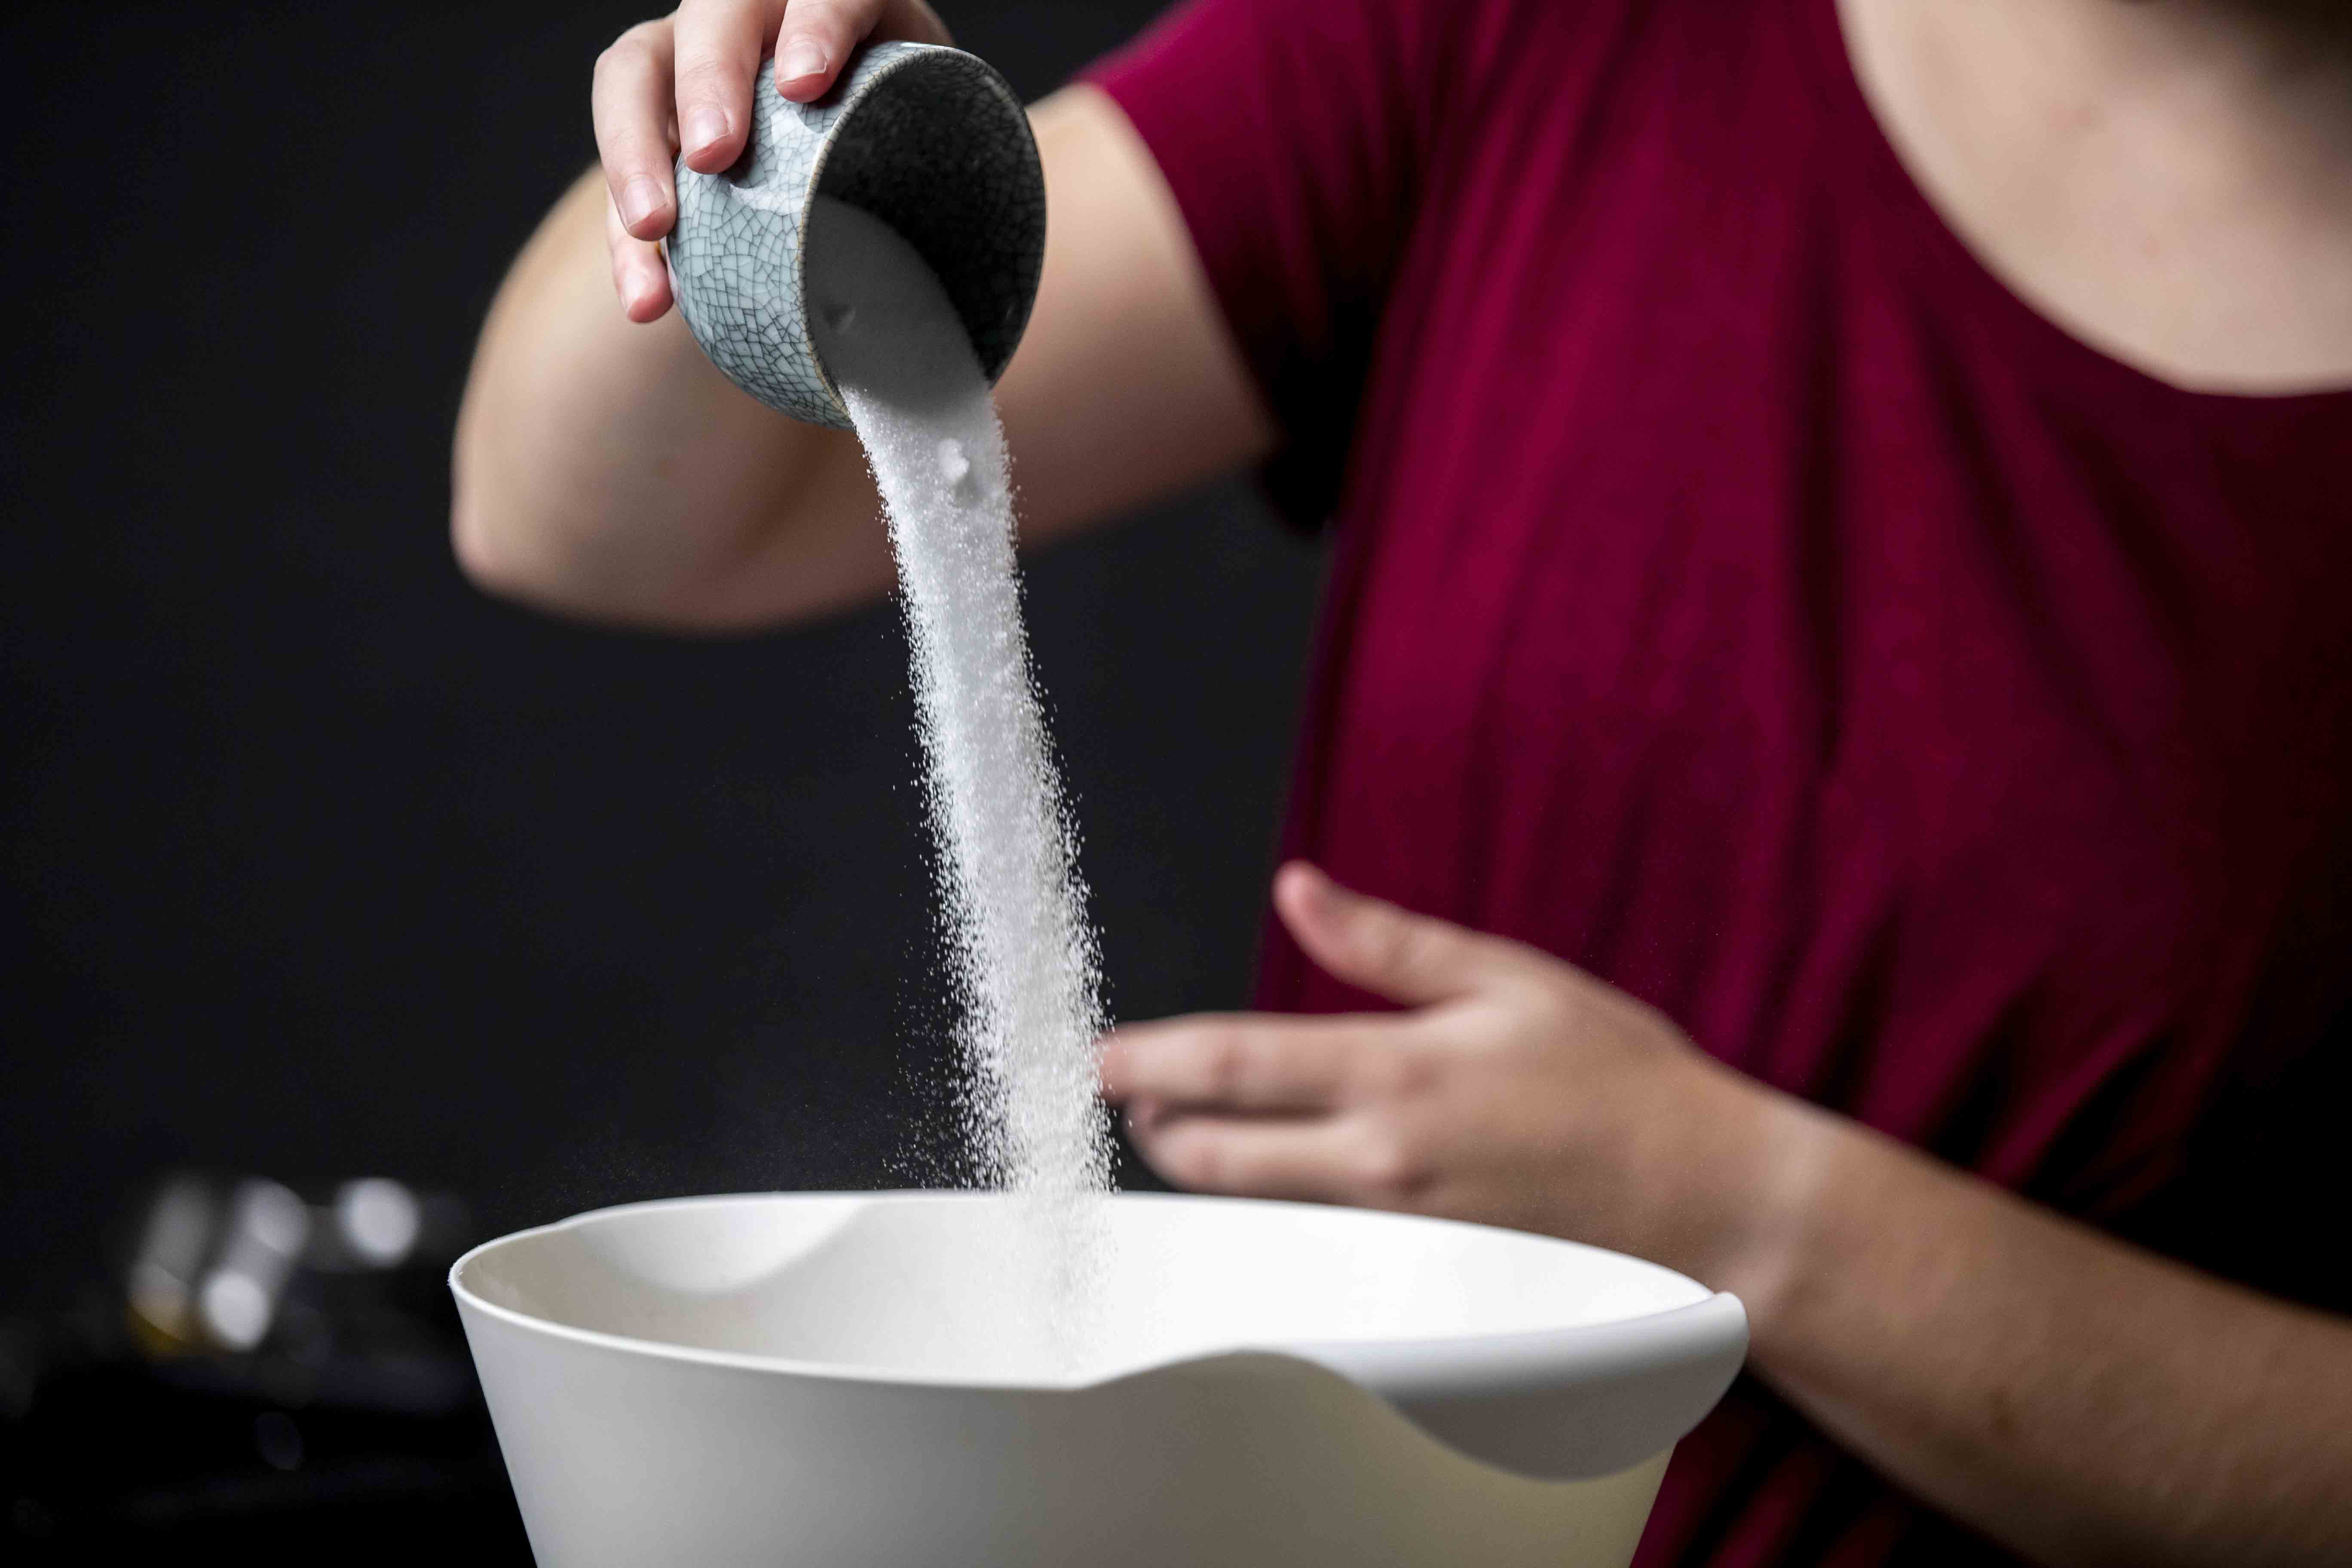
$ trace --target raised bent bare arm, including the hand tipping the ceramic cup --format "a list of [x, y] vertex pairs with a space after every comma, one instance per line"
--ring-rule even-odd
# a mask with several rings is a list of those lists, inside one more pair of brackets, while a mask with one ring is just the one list
[[[727, 129], [689, 162], [734, 162], [779, 28], [781, 61], [816, 38], [826, 63], [786, 89], [809, 99], [877, 21], [936, 35], [924, 19], [908, 0], [687, 0], [604, 54], [602, 169], [515, 261], [466, 386], [452, 536], [468, 576], [567, 614], [684, 630], [771, 625], [887, 588], [856, 440], [729, 386], [668, 308], [652, 242], [675, 212], [675, 127], [715, 110]], [[1033, 125], [1051, 223], [997, 407], [1035, 541], [1263, 456], [1272, 425], [1120, 108], [1075, 87]]]

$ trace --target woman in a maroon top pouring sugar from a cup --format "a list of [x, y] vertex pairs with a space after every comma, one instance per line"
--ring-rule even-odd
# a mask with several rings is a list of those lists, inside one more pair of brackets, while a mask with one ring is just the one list
[[[884, 590], [854, 442], [652, 247], [764, 52], [811, 99], [868, 35], [943, 31], [689, 0], [597, 63], [459, 425], [477, 581]], [[1644, 1561], [2352, 1561], [2279, 1208], [2352, 1016], [2340, 9], [1195, 0], [1035, 127], [1028, 536], [1251, 463], [1336, 531], [1331, 879], [1268, 1011], [1110, 1041], [1143, 1154], [1736, 1291]]]

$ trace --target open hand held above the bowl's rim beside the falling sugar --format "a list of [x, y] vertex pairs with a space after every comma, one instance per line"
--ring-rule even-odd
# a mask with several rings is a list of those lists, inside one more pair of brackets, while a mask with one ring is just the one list
[[1818, 1112], [1698, 1051], [1545, 952], [1341, 889], [1275, 907], [1329, 973], [1404, 1013], [1192, 1016], [1112, 1032], [1105, 1095], [1200, 1192], [1512, 1225], [1656, 1258], [1743, 1295]]

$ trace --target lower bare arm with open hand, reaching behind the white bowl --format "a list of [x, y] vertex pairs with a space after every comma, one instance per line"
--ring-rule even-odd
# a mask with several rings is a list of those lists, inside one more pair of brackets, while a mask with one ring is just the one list
[[2037, 1561], [2352, 1563], [2352, 1324], [1771, 1091], [1519, 943], [1303, 865], [1275, 905], [1414, 1011], [1120, 1030], [1105, 1091], [1171, 1180], [1517, 1225], [1733, 1291], [1766, 1382]]

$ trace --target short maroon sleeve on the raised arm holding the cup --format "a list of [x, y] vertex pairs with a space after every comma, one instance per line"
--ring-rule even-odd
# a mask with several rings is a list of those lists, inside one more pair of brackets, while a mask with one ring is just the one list
[[1160, 162], [1319, 524], [1428, 165], [1444, 40], [1416, 0], [1188, 0], [1087, 73]]

